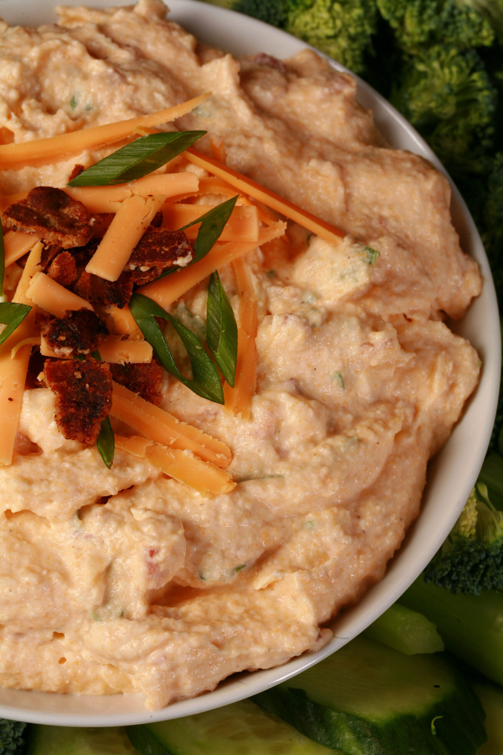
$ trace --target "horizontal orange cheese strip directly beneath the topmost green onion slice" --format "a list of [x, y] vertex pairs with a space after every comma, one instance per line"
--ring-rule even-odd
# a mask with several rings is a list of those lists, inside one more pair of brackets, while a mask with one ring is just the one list
[[133, 194], [172, 197], [183, 192], [197, 192], [198, 184], [194, 173], [164, 173], [115, 186], [63, 186], [63, 190], [72, 199], [82, 202], [90, 212], [117, 212], [120, 203]]

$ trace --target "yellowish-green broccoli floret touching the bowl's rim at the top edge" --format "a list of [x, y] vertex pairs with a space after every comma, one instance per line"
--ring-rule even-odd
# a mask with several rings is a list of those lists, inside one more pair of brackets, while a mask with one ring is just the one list
[[287, 32], [356, 73], [363, 71], [376, 22], [376, 0], [287, 0]]

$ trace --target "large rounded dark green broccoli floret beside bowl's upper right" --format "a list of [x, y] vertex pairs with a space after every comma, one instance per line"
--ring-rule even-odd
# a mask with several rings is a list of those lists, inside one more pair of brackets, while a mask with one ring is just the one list
[[391, 102], [454, 176], [487, 171], [497, 92], [476, 51], [434, 45], [410, 57]]

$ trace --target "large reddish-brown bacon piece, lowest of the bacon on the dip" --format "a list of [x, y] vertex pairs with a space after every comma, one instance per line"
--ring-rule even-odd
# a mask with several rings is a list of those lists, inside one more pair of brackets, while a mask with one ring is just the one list
[[56, 424], [63, 436], [80, 443], [95, 443], [112, 406], [109, 365], [92, 357], [85, 362], [47, 359], [44, 379], [56, 396]]

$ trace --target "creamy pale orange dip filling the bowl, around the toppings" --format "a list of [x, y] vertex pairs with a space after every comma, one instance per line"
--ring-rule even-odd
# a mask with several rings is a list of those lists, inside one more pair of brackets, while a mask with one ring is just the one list
[[[58, 14], [57, 26], [0, 26], [4, 143], [212, 91], [176, 121], [208, 131], [198, 149], [380, 254], [372, 265], [351, 236], [336, 248], [294, 223], [248, 254], [249, 420], [165, 375], [163, 408], [232, 449], [228, 494], [201, 495], [125, 451], [108, 470], [60, 434], [50, 390], [24, 393], [25, 442], [0, 467], [0, 684], [143, 692], [159, 708], [320, 648], [320, 627], [382, 578], [418, 516], [428, 458], [477, 385], [477, 353], [443, 320], [465, 313], [481, 279], [446, 179], [390, 149], [354, 79], [312, 51], [237, 60], [167, 20], [161, 0]], [[0, 171], [1, 193], [64, 186], [75, 163], [110, 151]], [[234, 270], [219, 273], [238, 316]], [[206, 288], [171, 311], [204, 329]]]

